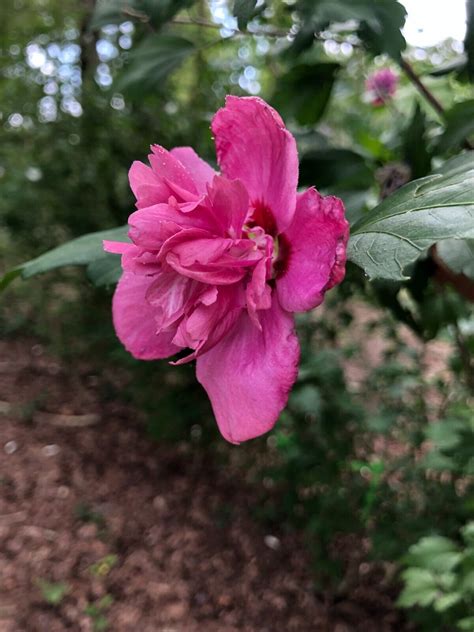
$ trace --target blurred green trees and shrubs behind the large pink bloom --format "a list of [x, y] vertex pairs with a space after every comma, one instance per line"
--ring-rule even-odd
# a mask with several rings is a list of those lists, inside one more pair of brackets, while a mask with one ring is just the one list
[[[190, 145], [215, 164], [209, 122], [226, 94], [277, 107], [297, 138], [300, 185], [340, 196], [356, 221], [470, 145], [473, 7], [465, 46], [446, 32], [406, 48], [395, 0], [3, 0], [2, 270], [126, 223], [127, 170], [151, 143]], [[365, 82], [385, 67], [399, 84], [375, 106]], [[334, 552], [356, 535], [362, 558], [402, 571], [400, 606], [430, 631], [474, 630], [472, 270], [425, 255], [409, 281], [368, 283], [349, 265], [325, 306], [300, 318], [287, 410], [237, 457], [260, 490], [255, 519], [306, 533], [318, 590], [357, 583]], [[121, 348], [112, 291], [77, 269], [19, 282], [3, 295], [0, 335], [34, 336], [71, 370], [120, 366], [129, 379], [103, 397], [145, 411], [154, 440], [235, 459], [192, 367]]]

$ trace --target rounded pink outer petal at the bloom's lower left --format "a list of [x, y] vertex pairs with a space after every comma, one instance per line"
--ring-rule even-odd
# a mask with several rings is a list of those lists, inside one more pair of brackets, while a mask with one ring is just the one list
[[112, 302], [115, 332], [120, 342], [138, 360], [167, 358], [180, 349], [174, 332], [156, 333], [154, 310], [145, 299], [153, 277], [124, 272]]

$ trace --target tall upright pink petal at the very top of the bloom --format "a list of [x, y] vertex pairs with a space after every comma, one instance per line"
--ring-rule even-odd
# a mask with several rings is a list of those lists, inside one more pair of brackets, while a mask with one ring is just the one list
[[267, 232], [272, 223], [285, 230], [295, 211], [298, 155], [279, 114], [258, 97], [230, 96], [211, 127], [222, 173], [244, 183]]

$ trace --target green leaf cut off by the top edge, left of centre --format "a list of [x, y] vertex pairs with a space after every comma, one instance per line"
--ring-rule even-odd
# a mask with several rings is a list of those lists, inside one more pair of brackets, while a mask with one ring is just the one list
[[99, 0], [94, 8], [89, 29], [97, 30], [107, 24], [127, 20], [149, 23], [159, 28], [181, 9], [195, 0]]

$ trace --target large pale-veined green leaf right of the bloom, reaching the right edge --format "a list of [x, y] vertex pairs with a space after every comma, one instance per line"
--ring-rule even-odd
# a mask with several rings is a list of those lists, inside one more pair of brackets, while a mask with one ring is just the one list
[[474, 152], [466, 152], [366, 213], [352, 228], [348, 258], [372, 279], [403, 280], [435, 242], [472, 238]]

